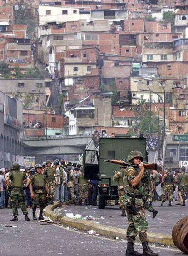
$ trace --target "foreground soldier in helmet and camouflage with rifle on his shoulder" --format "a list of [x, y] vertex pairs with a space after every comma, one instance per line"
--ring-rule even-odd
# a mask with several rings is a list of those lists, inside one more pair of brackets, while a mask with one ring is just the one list
[[144, 167], [141, 164], [143, 155], [140, 151], [131, 151], [128, 155], [130, 163], [137, 165], [139, 169], [128, 167], [124, 172], [124, 204], [127, 211], [128, 228], [127, 228], [127, 250], [126, 255], [142, 255], [134, 250], [134, 240], [139, 235], [143, 246], [143, 255], [157, 256], [148, 245], [147, 229], [148, 221], [145, 218], [143, 205], [143, 186], [141, 179], [144, 173]]

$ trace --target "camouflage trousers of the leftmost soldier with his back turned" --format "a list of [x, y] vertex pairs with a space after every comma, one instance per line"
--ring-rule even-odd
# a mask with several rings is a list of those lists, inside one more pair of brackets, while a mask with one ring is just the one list
[[23, 214], [28, 214], [25, 205], [25, 196], [22, 190], [13, 188], [10, 194], [10, 201], [13, 211], [13, 216], [18, 216], [18, 208], [21, 208]]

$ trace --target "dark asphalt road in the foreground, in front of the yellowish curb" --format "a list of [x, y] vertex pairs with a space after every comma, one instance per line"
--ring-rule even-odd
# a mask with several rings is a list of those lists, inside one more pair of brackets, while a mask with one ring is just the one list
[[[0, 256], [114, 256], [125, 255], [126, 241], [89, 236], [59, 225], [25, 221], [11, 222], [11, 209], [0, 209]], [[31, 216], [31, 211], [29, 216]], [[9, 227], [15, 225], [16, 227]], [[140, 244], [135, 248], [142, 251]], [[178, 249], [152, 246], [160, 256], [183, 255]]]

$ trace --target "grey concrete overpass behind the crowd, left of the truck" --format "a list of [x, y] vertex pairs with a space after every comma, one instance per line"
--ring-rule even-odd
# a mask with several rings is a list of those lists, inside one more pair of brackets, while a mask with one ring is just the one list
[[70, 136], [24, 136], [24, 155], [34, 155], [36, 162], [43, 156], [82, 154], [91, 141], [91, 134]]

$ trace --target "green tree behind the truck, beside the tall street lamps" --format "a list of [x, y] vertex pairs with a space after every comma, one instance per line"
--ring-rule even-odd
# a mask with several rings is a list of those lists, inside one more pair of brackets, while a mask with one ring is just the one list
[[136, 105], [134, 108], [134, 113], [136, 116], [136, 120], [133, 127], [135, 129], [139, 129], [141, 133], [148, 133], [149, 131], [151, 133], [158, 133], [161, 131], [161, 124], [159, 124], [158, 127], [157, 115], [153, 111], [151, 111], [150, 115], [150, 103], [146, 103], [143, 101], [140, 104]]

